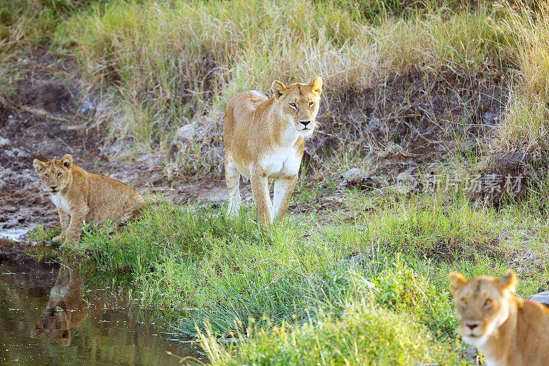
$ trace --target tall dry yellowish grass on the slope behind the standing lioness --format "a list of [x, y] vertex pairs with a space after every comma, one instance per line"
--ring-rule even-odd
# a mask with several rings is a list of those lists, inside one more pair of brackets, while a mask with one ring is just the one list
[[352, 1], [129, 2], [73, 16], [56, 39], [123, 106], [108, 121], [113, 135], [162, 150], [177, 126], [194, 124], [198, 142], [183, 160], [207, 169], [220, 159], [224, 104], [237, 91], [320, 75], [326, 101], [395, 74], [474, 73], [511, 54], [495, 17], [491, 5], [371, 23]]

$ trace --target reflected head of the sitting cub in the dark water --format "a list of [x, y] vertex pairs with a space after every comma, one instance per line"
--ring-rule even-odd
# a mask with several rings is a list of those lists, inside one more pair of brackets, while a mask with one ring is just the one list
[[59, 341], [60, 345], [67, 346], [71, 344], [71, 330], [69, 324], [71, 322], [70, 312], [62, 310], [56, 306], [44, 310], [38, 321], [34, 323], [31, 337], [33, 339], [40, 336], [47, 336]]

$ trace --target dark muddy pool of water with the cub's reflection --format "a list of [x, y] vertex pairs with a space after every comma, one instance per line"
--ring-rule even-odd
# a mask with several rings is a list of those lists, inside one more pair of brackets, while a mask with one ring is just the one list
[[126, 299], [117, 279], [0, 257], [0, 365], [180, 365], [199, 357], [196, 345], [168, 340]]

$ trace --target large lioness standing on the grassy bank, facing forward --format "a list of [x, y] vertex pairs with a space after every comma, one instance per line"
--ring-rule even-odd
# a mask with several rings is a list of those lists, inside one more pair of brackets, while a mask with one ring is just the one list
[[274, 80], [271, 85], [274, 98], [250, 90], [229, 100], [223, 120], [223, 141], [230, 214], [240, 209], [242, 174], [251, 181], [261, 223], [268, 225], [275, 216], [282, 219], [297, 182], [305, 137], [311, 136], [316, 127], [322, 87], [322, 79], [318, 77], [309, 84], [295, 82], [288, 87]]

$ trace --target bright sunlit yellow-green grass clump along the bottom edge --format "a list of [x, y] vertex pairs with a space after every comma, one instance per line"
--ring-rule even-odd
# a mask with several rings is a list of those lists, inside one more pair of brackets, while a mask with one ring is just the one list
[[410, 365], [456, 361], [451, 347], [435, 341], [411, 314], [395, 314], [366, 301], [345, 305], [342, 317], [318, 310], [316, 319], [296, 325], [248, 328], [237, 352], [227, 352], [211, 334], [200, 334], [215, 365]]

